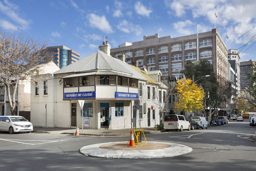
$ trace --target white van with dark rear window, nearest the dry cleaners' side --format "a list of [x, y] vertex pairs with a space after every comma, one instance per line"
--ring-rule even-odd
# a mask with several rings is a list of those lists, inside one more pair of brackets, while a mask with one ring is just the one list
[[173, 129], [176, 131], [183, 131], [183, 129], [190, 131], [190, 122], [183, 115], [165, 115], [164, 129], [167, 132]]

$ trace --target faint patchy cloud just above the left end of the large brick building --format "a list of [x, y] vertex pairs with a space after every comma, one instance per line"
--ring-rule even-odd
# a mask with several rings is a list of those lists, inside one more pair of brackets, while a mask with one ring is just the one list
[[142, 28], [140, 25], [134, 25], [126, 20], [121, 21], [119, 25], [117, 25], [117, 28], [125, 33], [135, 32], [137, 36], [142, 33]]

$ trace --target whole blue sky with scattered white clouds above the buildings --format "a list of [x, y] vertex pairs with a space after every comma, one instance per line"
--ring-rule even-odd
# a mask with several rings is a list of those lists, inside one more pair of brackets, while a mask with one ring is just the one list
[[98, 50], [104, 36], [116, 48], [144, 35], [195, 34], [197, 24], [199, 32], [210, 31], [216, 23], [227, 45], [236, 40], [228, 49], [240, 48], [245, 61], [256, 59], [255, 9], [254, 0], [0, 0], [0, 29], [65, 45], [83, 58]]

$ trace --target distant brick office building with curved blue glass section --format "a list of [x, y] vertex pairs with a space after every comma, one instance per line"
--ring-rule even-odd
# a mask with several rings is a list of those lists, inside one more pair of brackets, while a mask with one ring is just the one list
[[54, 53], [53, 61], [59, 68], [64, 68], [80, 59], [79, 53], [63, 45], [51, 46], [47, 47], [47, 49]]

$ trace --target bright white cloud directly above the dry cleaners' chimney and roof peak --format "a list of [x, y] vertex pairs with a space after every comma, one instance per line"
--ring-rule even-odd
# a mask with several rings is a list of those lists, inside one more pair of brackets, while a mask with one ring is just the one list
[[107, 21], [105, 16], [97, 16], [93, 13], [87, 15], [87, 19], [90, 22], [90, 26], [93, 28], [100, 29], [105, 33], [113, 33], [111, 25]]

